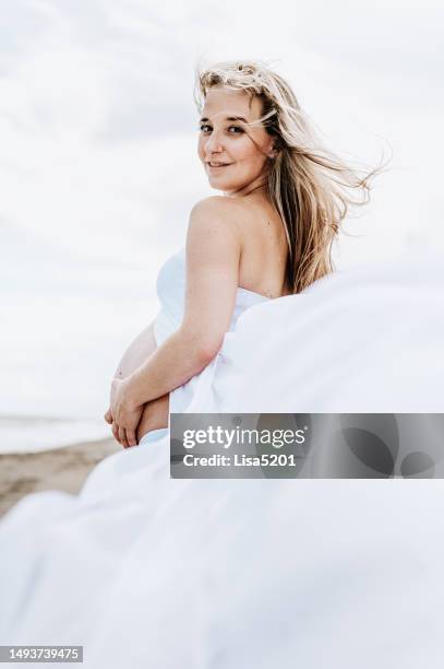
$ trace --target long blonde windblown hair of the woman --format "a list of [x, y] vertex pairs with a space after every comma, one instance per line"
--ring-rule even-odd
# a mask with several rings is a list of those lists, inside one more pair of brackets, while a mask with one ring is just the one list
[[[275, 138], [276, 156], [267, 159], [267, 196], [287, 236], [286, 278], [293, 293], [335, 271], [332, 245], [348, 208], [370, 201], [369, 180], [323, 146], [290, 85], [264, 61], [224, 61], [195, 68], [194, 101], [202, 113], [207, 91], [219, 86], [262, 99], [263, 125]], [[348, 192], [358, 189], [361, 201]]]

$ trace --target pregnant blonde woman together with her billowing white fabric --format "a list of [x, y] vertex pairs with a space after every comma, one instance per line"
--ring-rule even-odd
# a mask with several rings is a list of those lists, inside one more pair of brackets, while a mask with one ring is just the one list
[[[440, 489], [169, 478], [171, 413], [443, 406], [437, 258], [332, 273], [340, 187], [367, 180], [319, 151], [265, 66], [199, 81], [199, 154], [224, 195], [193, 208], [117, 372], [106, 415], [132, 447], [79, 497], [27, 495], [0, 523], [0, 644], [83, 644], [92, 669], [437, 669]], [[375, 477], [405, 476], [395, 460]]]

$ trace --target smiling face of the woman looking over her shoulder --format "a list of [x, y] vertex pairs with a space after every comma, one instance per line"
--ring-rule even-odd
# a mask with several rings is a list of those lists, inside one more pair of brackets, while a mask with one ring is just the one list
[[[273, 138], [260, 125], [245, 121], [262, 115], [262, 101], [244, 91], [213, 87], [206, 94], [199, 136], [199, 157], [209, 185], [227, 195], [242, 196], [264, 184]], [[225, 163], [216, 167], [211, 163]]]

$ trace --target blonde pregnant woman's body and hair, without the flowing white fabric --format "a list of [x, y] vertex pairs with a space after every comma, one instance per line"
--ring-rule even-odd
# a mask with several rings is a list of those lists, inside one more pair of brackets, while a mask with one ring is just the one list
[[[175, 331], [157, 347], [152, 324], [116, 373], [105, 418], [124, 447], [151, 431], [165, 434], [170, 399], [183, 395], [173, 391], [192, 377], [203, 383], [237, 307], [301, 293], [333, 271], [331, 247], [348, 204], [369, 192], [371, 175], [360, 178], [322, 146], [290, 85], [265, 63], [197, 71], [195, 92], [197, 154], [220, 195], [191, 211]], [[179, 404], [175, 411], [184, 410]]]

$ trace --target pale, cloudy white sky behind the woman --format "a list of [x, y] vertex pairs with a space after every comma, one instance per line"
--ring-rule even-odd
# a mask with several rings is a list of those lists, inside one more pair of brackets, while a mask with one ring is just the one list
[[0, 414], [106, 410], [199, 199], [197, 61], [257, 58], [324, 142], [374, 167], [338, 269], [442, 248], [441, 3], [3, 0]]

